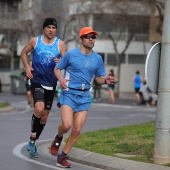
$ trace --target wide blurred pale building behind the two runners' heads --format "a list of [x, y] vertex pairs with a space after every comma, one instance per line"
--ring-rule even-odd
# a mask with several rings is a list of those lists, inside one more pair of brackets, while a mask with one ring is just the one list
[[[46, 17], [57, 19], [58, 36], [66, 42], [67, 50], [79, 46], [78, 32], [81, 27], [91, 26], [99, 33], [94, 50], [102, 56], [106, 73], [114, 69], [115, 74], [119, 74], [119, 91], [133, 92], [132, 77], [136, 70], [145, 76], [147, 53], [155, 42], [150, 38], [150, 27], [153, 25], [150, 22], [152, 18], [154, 23], [153, 16], [159, 16], [154, 11], [156, 1], [153, 2], [49, 0], [47, 3], [46, 0], [22, 0], [19, 5], [22, 30], [17, 54], [20, 55], [30, 37], [42, 33], [42, 22]], [[154, 35], [152, 33], [153, 38]], [[19, 67], [23, 67], [22, 62]]]

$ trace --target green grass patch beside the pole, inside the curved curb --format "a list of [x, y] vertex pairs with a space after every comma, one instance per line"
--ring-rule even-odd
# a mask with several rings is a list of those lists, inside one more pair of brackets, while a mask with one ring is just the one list
[[[155, 122], [81, 133], [77, 148], [153, 163]], [[170, 165], [167, 165], [170, 166]]]

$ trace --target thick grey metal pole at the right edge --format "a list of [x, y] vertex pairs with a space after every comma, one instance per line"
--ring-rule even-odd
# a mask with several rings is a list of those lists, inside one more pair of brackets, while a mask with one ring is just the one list
[[154, 163], [170, 163], [170, 0], [165, 0], [155, 125]]

